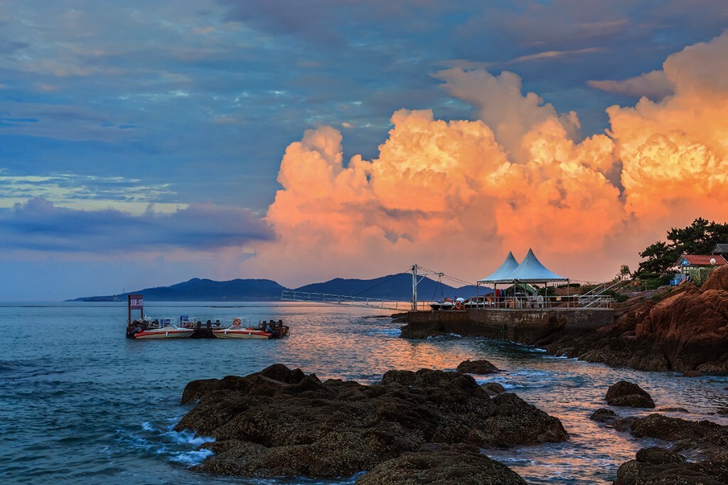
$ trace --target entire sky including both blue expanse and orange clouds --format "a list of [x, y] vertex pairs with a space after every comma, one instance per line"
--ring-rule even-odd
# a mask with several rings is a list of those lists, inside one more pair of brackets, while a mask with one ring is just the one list
[[0, 300], [296, 287], [728, 218], [724, 0], [0, 2]]

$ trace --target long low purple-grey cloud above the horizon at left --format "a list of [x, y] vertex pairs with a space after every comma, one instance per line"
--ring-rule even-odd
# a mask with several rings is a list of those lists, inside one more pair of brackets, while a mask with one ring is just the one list
[[216, 251], [272, 240], [250, 210], [190, 205], [171, 214], [57, 208], [43, 198], [0, 213], [0, 248], [53, 253]]

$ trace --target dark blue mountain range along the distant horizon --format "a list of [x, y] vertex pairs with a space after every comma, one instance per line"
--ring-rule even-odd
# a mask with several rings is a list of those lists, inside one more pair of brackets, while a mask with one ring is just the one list
[[[397, 301], [412, 299], [412, 275], [400, 273], [372, 280], [335, 278], [325, 283], [313, 283], [300, 288], [285, 288], [272, 280], [213, 281], [192, 278], [171, 286], [157, 286], [143, 290], [107, 296], [84, 296], [70, 301], [126, 301], [127, 295], [142, 294], [146, 301], [272, 301], [280, 299], [283, 291], [304, 291], [332, 295], [363, 296]], [[479, 293], [486, 293], [480, 287]], [[454, 288], [444, 283], [424, 278], [417, 285], [420, 300], [439, 300], [444, 296], [470, 298], [475, 296], [475, 286]]]

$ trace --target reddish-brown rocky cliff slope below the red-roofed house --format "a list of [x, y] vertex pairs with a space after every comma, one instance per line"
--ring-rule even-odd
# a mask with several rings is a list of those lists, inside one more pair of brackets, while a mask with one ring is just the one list
[[628, 301], [617, 321], [582, 336], [536, 342], [553, 355], [647, 371], [728, 374], [728, 266], [662, 301]]

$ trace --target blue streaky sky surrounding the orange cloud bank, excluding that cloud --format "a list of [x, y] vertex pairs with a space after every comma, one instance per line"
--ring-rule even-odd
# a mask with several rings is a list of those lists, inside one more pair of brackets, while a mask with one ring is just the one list
[[376, 158], [398, 109], [476, 119], [438, 73], [483, 68], [577, 111], [580, 139], [661, 96], [593, 82], [726, 28], [723, 0], [4, 1], [0, 299], [265, 277], [239, 264], [280, 237], [263, 218], [305, 130]]

